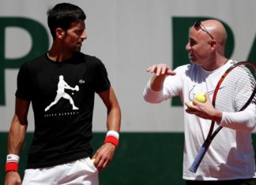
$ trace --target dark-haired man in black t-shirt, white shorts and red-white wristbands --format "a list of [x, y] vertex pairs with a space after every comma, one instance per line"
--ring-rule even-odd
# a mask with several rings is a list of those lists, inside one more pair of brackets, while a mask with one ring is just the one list
[[[10, 126], [6, 185], [21, 184], [18, 161], [28, 126], [30, 102], [35, 117], [23, 184], [98, 184], [119, 144], [121, 111], [104, 64], [82, 54], [87, 39], [85, 13], [60, 3], [48, 11], [51, 49], [21, 66], [16, 109]], [[107, 136], [92, 155], [92, 115], [97, 93], [107, 108]]]

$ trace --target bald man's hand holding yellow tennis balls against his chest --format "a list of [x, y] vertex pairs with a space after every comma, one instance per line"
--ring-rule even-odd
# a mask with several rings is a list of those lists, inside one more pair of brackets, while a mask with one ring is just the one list
[[220, 123], [222, 119], [222, 113], [215, 109], [209, 99], [209, 94], [205, 94], [206, 102], [193, 101], [193, 105], [185, 102], [187, 106], [186, 113], [194, 114], [198, 117], [201, 117], [205, 120], [215, 120], [217, 123]]

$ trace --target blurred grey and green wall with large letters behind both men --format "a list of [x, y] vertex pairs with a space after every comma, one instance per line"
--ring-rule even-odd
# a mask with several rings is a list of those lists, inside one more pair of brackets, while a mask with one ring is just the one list
[[[0, 184], [4, 182], [7, 135], [14, 113], [17, 72], [24, 61], [51, 46], [47, 9], [59, 0], [2, 0], [0, 6]], [[99, 57], [122, 108], [122, 131], [114, 161], [100, 173], [101, 185], [182, 185], [183, 105], [179, 98], [161, 104], [142, 97], [156, 63], [171, 68], [188, 63], [185, 50], [194, 20], [217, 19], [228, 31], [226, 55], [256, 62], [256, 2], [254, 0], [73, 0], [86, 13], [82, 52]], [[106, 134], [106, 109], [96, 96], [92, 146]], [[21, 153], [23, 176], [26, 153], [34, 130], [32, 108]], [[253, 139], [256, 139], [256, 131]], [[254, 143], [254, 148], [256, 145]]]

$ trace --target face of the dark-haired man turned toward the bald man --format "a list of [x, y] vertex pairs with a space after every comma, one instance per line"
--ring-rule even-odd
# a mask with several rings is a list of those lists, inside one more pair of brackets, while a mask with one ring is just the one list
[[83, 41], [87, 39], [85, 32], [85, 22], [73, 22], [69, 29], [64, 31], [63, 46], [69, 52], [76, 52], [81, 50]]

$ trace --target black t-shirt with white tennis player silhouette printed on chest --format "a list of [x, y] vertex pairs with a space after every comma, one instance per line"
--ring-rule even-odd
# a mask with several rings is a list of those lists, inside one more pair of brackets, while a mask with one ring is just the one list
[[91, 157], [94, 95], [110, 86], [104, 64], [85, 54], [76, 53], [62, 62], [44, 54], [24, 63], [16, 96], [32, 102], [35, 117], [27, 168]]

